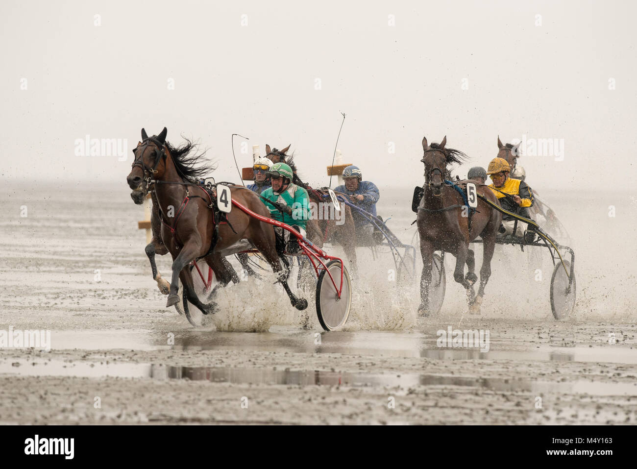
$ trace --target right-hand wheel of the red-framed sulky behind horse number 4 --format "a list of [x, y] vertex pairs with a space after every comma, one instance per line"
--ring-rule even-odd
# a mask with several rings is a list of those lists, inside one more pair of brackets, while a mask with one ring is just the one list
[[[352, 307], [352, 282], [347, 269], [343, 266], [343, 289], [341, 290], [341, 298], [338, 298], [338, 291], [334, 289], [340, 287], [341, 282], [341, 263], [336, 259], [327, 263], [327, 270], [318, 274], [317, 282], [317, 315], [318, 322], [326, 331], [333, 331], [340, 328], [347, 321]], [[334, 278], [332, 282], [327, 272]]]

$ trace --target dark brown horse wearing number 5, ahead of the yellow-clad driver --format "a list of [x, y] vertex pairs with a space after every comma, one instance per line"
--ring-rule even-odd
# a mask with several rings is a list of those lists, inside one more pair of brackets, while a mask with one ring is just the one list
[[[420, 235], [420, 254], [422, 255], [422, 275], [420, 277], [419, 314], [429, 315], [429, 285], [433, 253], [436, 250], [450, 252], [455, 256], [454, 279], [467, 290], [467, 300], [471, 312], [480, 312], [480, 303], [484, 289], [491, 275], [491, 258], [496, 243], [496, 233], [502, 220], [500, 212], [478, 198], [476, 212], [471, 215], [464, 207], [464, 199], [451, 185], [445, 184], [447, 165], [461, 163], [466, 155], [453, 148], [445, 148], [447, 136], [439, 144], [427, 144], [422, 139], [424, 151], [422, 162], [425, 165], [424, 196], [418, 207], [417, 226]], [[466, 187], [468, 181], [455, 182]], [[477, 181], [476, 181], [477, 182]], [[498, 204], [493, 192], [483, 185], [476, 184], [478, 194]], [[499, 205], [499, 204], [498, 204]], [[469, 249], [469, 243], [478, 236], [482, 237], [484, 257], [480, 268], [480, 288], [475, 296], [473, 285], [478, 280], [475, 274], [475, 256]], [[464, 274], [464, 264], [468, 273]]]

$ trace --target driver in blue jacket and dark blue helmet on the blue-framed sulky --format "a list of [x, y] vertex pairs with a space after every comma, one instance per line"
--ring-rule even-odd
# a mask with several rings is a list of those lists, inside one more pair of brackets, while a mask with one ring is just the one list
[[[376, 184], [370, 181], [363, 181], [361, 170], [353, 165], [347, 166], [343, 170], [343, 181], [345, 184], [336, 187], [334, 191], [346, 194], [349, 196], [350, 202], [355, 206], [376, 217], [376, 202], [380, 199], [380, 192]], [[373, 233], [373, 224], [362, 213], [352, 210], [352, 217], [354, 218], [357, 233], [366, 232], [369, 235]]]

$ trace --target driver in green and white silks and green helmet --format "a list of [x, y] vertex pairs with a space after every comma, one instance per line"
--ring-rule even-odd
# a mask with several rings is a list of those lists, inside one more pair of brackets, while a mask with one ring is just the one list
[[[282, 206], [283, 213], [274, 205], [266, 203], [270, 211], [270, 217], [282, 221], [296, 229], [301, 235], [306, 236], [305, 227], [310, 219], [310, 199], [308, 192], [296, 184], [292, 184], [292, 168], [279, 162], [272, 166], [267, 173], [272, 181], [272, 186], [261, 193], [265, 199]], [[299, 243], [296, 237], [280, 227], [275, 227], [275, 233], [282, 243], [287, 245], [287, 252], [294, 254], [299, 251]]]

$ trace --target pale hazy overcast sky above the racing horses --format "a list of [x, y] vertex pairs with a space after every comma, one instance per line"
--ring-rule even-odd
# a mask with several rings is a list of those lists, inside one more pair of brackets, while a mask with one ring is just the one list
[[[125, 184], [141, 127], [166, 126], [171, 143], [208, 148], [217, 180], [238, 182], [239, 133], [240, 166], [254, 144], [292, 143], [304, 179], [327, 185], [343, 111], [345, 162], [381, 188], [422, 184], [423, 136], [466, 152], [464, 176], [499, 134], [563, 142], [562, 161], [522, 156], [532, 187], [603, 189], [636, 175], [636, 13], [581, 0], [3, 0], [0, 172]], [[87, 134], [126, 141], [126, 160], [76, 155]]]

